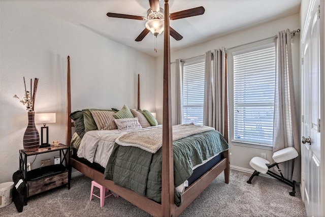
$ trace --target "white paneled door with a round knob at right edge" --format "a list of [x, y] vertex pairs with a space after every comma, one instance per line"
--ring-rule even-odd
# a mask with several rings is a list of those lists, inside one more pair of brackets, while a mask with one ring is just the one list
[[[308, 216], [323, 216], [320, 146], [320, 1], [311, 1], [302, 36], [302, 195]], [[324, 84], [322, 84], [324, 85]]]

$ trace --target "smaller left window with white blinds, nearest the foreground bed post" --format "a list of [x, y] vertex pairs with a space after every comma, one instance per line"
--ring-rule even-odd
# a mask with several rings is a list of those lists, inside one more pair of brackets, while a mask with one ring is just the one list
[[183, 67], [183, 123], [203, 125], [204, 59]]

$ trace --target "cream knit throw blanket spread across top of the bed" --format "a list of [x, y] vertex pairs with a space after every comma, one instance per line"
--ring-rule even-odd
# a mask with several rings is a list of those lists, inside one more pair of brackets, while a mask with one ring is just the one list
[[[214, 128], [198, 126], [193, 123], [175, 125], [173, 126], [173, 141], [211, 130]], [[134, 146], [155, 153], [163, 146], [163, 128], [129, 132], [117, 138], [115, 142], [121, 146]]]

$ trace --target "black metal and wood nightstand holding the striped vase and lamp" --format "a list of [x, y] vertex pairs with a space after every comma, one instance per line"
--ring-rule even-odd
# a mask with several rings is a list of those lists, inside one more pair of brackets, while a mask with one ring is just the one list
[[[59, 151], [60, 163], [40, 167], [27, 171], [27, 157], [38, 154]], [[27, 198], [45, 192], [47, 190], [68, 184], [70, 189], [71, 166], [70, 166], [70, 147], [59, 144], [50, 147], [40, 148], [37, 151], [19, 150], [19, 171], [26, 183], [25, 205]]]

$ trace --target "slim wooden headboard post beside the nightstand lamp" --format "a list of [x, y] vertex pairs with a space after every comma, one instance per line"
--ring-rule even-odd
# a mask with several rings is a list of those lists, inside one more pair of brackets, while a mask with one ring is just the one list
[[69, 117], [71, 113], [71, 86], [70, 86], [70, 56], [68, 56], [68, 76], [67, 76], [67, 114], [66, 114], [66, 145], [70, 146], [72, 138], [72, 123]]

